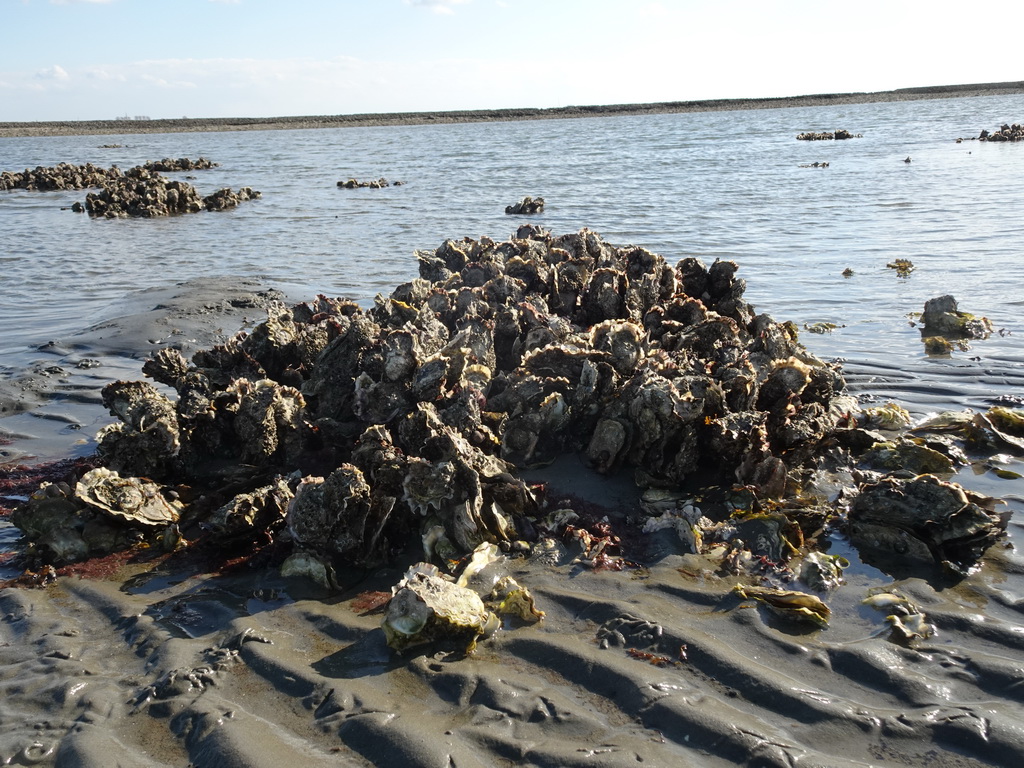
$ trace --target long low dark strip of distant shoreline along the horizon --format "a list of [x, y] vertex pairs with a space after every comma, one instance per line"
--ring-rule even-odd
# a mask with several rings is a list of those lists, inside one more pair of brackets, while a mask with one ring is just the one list
[[[189, 133], [198, 131], [265, 131], [312, 128], [354, 128], [393, 125], [445, 125], [518, 120], [559, 120], [568, 118], [665, 115], [686, 112], [771, 110], [791, 106], [824, 106], [879, 101], [913, 101], [932, 98], [961, 98], [1024, 93], [1024, 81], [935, 85], [864, 93], [819, 93], [776, 98], [723, 98], [698, 101], [660, 101], [642, 104], [595, 106], [522, 108], [468, 110], [459, 112], [406, 112], [367, 115], [322, 115], [278, 118], [180, 118], [172, 120], [86, 120], [76, 122], [0, 123], [0, 137], [76, 136], [118, 133]], [[1004, 116], [993, 116], [1001, 120]]]

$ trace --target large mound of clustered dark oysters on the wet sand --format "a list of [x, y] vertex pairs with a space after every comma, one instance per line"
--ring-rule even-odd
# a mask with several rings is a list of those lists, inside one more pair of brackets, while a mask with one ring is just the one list
[[[98, 436], [101, 468], [13, 515], [32, 553], [60, 563], [143, 540], [276, 540], [286, 572], [329, 584], [338, 567], [421, 547], [447, 566], [486, 543], [561, 537], [608, 565], [613, 531], [569, 524], [517, 476], [568, 452], [632, 471], [645, 529], [673, 527], [692, 552], [721, 546], [736, 572], [792, 574], [854, 498], [858, 546], [883, 555], [963, 572], [1004, 534], [992, 500], [903, 468], [899, 457], [929, 451], [927, 471], [951, 474], [955, 439], [872, 431], [891, 414], [860, 413], [793, 324], [757, 314], [732, 261], [673, 265], [588, 229], [529, 225], [417, 257], [420, 278], [370, 309], [278, 304], [190, 360], [161, 350], [142, 368], [155, 383], [109, 384], [118, 422]], [[838, 584], [831, 561], [810, 565]], [[798, 614], [827, 621], [795, 594], [783, 597]], [[743, 593], [781, 600], [766, 595]]]

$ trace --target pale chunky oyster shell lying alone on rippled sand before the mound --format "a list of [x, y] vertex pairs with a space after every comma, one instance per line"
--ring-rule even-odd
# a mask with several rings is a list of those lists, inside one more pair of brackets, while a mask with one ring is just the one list
[[498, 617], [479, 595], [446, 581], [429, 563], [412, 566], [391, 592], [382, 629], [394, 650], [441, 642], [468, 653], [498, 628]]

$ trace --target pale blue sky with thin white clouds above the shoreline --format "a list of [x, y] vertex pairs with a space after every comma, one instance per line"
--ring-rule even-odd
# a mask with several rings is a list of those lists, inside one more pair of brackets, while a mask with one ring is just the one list
[[764, 98], [1024, 79], [919, 0], [0, 0], [0, 122]]

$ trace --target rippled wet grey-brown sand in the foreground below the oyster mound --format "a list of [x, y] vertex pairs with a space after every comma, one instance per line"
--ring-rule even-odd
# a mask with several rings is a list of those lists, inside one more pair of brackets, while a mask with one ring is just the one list
[[740, 604], [732, 579], [672, 548], [625, 572], [506, 561], [498, 571], [547, 615], [469, 657], [387, 648], [359, 596], [389, 590], [399, 566], [342, 574], [340, 594], [269, 567], [211, 575], [159, 559], [7, 589], [0, 758], [964, 767], [1024, 751], [1021, 607], [998, 590], [982, 616], [957, 605], [961, 590], [902, 581], [939, 628], [908, 649], [857, 604], [857, 577], [830, 599], [833, 626], [811, 632]]

